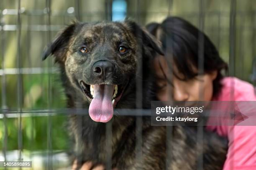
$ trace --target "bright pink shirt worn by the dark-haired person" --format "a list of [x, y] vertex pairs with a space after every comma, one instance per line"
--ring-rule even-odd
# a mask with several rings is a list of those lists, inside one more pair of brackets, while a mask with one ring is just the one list
[[[212, 100], [256, 101], [254, 87], [250, 83], [236, 77], [225, 77], [222, 84], [220, 95]], [[220, 125], [206, 128], [228, 138], [228, 153], [223, 170], [256, 170], [256, 126]]]

